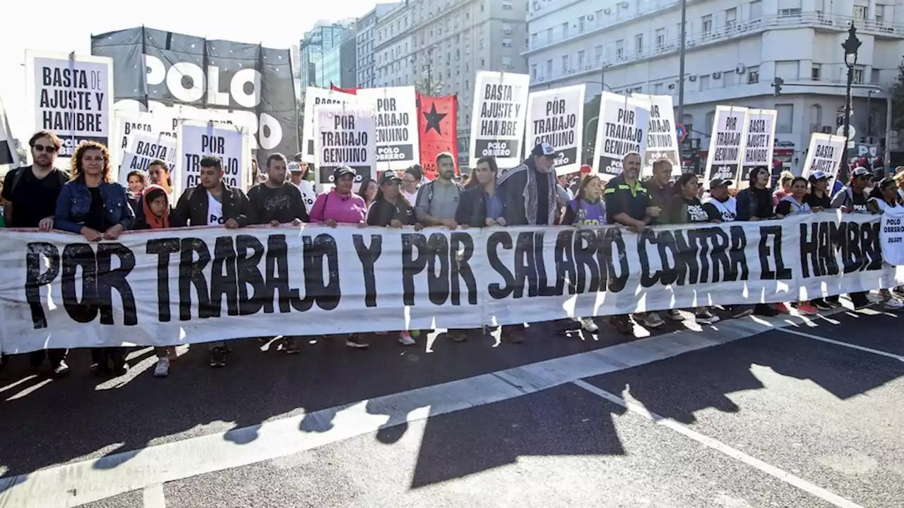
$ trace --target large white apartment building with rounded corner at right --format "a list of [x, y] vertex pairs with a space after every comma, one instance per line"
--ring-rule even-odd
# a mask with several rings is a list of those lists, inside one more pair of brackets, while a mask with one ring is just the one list
[[[602, 79], [617, 92], [671, 94], [677, 106], [680, 0], [530, 0], [527, 20], [532, 88], [586, 82], [592, 97]], [[843, 110], [841, 43], [851, 22], [862, 41], [855, 140], [884, 138], [886, 90], [904, 55], [904, 1], [689, 0], [685, 20], [684, 108], [676, 120], [704, 150], [717, 104], [774, 108], [781, 158], [799, 172], [810, 133], [834, 132]], [[776, 77], [785, 80], [778, 97]]]

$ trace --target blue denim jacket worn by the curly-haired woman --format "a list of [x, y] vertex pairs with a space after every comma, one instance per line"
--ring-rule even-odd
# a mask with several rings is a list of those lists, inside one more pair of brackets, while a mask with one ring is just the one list
[[[135, 212], [129, 206], [126, 188], [116, 182], [101, 182], [100, 196], [104, 201], [104, 213], [113, 224], [121, 224], [124, 230], [132, 227]], [[62, 186], [57, 198], [53, 229], [80, 233], [85, 217], [91, 208], [91, 193], [81, 179]]]

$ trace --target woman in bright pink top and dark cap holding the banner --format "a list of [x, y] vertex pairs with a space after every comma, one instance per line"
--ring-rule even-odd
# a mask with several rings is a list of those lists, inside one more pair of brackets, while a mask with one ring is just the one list
[[[339, 166], [333, 172], [334, 187], [328, 193], [317, 196], [311, 206], [311, 221], [331, 228], [338, 224], [356, 224], [359, 228], [367, 225], [367, 205], [364, 199], [352, 192], [354, 178], [358, 174], [348, 166]], [[369, 347], [358, 334], [350, 334], [345, 345], [363, 349]]]

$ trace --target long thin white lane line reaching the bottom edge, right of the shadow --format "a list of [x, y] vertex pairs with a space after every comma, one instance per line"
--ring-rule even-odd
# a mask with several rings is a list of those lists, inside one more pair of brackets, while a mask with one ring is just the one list
[[608, 400], [609, 402], [628, 409], [629, 411], [638, 414], [645, 419], [654, 421], [655, 423], [662, 425], [665, 428], [671, 428], [684, 437], [690, 437], [691, 439], [697, 441], [705, 447], [711, 447], [712, 449], [724, 455], [730, 456], [731, 458], [739, 460], [740, 462], [743, 462], [748, 466], [754, 467], [762, 471], [763, 473], [766, 473], [767, 475], [773, 476], [778, 480], [785, 482], [786, 484], [794, 485], [805, 493], [814, 495], [815, 497], [818, 497], [827, 503], [832, 503], [835, 506], [839, 506], [840, 508], [863, 508], [860, 504], [853, 503], [852, 501], [844, 499], [838, 494], [834, 494], [828, 490], [825, 490], [823, 487], [820, 487], [818, 485], [811, 484], [805, 479], [796, 475], [792, 475], [791, 473], [779, 469], [776, 466], [771, 466], [763, 462], [762, 460], [759, 460], [757, 457], [749, 456], [738, 449], [732, 448], [720, 441], [713, 439], [712, 437], [704, 436], [701, 433], [692, 430], [691, 428], [687, 428], [681, 423], [678, 423], [672, 419], [666, 419], [652, 411], [647, 410], [640, 404], [637, 404], [635, 402], [628, 402], [627, 400], [624, 400], [613, 393], [610, 393], [606, 390], [601, 390], [596, 386], [589, 384], [587, 381], [576, 380], [572, 382], [578, 385], [580, 388], [588, 390], [590, 393], [597, 395], [598, 397], [601, 397], [605, 400]]

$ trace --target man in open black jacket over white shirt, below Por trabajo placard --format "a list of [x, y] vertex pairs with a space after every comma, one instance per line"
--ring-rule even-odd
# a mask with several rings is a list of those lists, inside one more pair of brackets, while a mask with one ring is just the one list
[[[222, 181], [222, 161], [214, 155], [201, 159], [201, 183], [185, 189], [171, 215], [173, 227], [223, 225], [229, 229], [248, 225], [248, 198], [241, 189]], [[226, 366], [226, 343], [212, 342], [211, 367]]]

